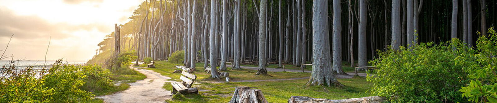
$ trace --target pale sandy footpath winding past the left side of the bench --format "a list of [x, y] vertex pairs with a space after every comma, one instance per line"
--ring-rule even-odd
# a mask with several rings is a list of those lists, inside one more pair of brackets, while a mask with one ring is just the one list
[[172, 82], [167, 81], [171, 78], [152, 70], [134, 69], [145, 74], [147, 78], [130, 83], [128, 90], [96, 98], [104, 100], [105, 103], [165, 103], [167, 99], [171, 99], [171, 91], [162, 88], [165, 82]]

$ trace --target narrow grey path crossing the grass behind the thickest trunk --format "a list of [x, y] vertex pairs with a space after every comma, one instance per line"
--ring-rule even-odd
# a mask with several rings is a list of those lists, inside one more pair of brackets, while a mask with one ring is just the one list
[[[227, 67], [232, 67], [232, 65], [226, 65]], [[257, 67], [251, 67], [251, 66], [240, 66], [241, 68], [244, 68], [244, 69], [250, 69], [250, 70], [257, 70], [258, 68]], [[282, 72], [283, 69], [281, 68], [268, 68], [266, 67], [267, 71], [270, 71], [270, 72]], [[289, 71], [289, 72], [302, 72], [302, 70], [296, 70], [296, 69], [286, 69], [286, 71]], [[310, 70], [304, 70], [304, 72], [306, 73], [310, 73], [311, 71]], [[351, 72], [346, 72], [348, 75], [345, 75], [345, 74], [335, 74], [335, 78], [352, 78], [354, 77], [353, 75], [355, 75], [355, 73], [351, 73]], [[359, 76], [362, 76], [362, 77], [366, 77], [366, 73], [357, 73]], [[292, 78], [290, 78], [292, 79]], [[256, 81], [254, 81], [256, 82]]]

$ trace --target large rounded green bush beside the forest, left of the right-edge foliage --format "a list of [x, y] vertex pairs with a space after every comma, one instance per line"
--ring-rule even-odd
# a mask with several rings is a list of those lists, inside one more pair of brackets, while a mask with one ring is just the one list
[[467, 73], [461, 69], [465, 65], [456, 65], [455, 59], [472, 53], [467, 49], [454, 39], [440, 45], [420, 43], [411, 48], [379, 51], [379, 57], [370, 61], [377, 67], [374, 77], [367, 77], [374, 83], [370, 92], [394, 103], [464, 102], [458, 90], [468, 81]]

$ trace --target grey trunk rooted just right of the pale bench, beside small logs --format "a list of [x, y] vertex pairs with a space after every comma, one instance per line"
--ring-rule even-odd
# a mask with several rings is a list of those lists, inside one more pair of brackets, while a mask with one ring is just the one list
[[214, 56], [216, 56], [216, 43], [215, 40], [216, 40], [216, 26], [217, 26], [217, 19], [216, 17], [218, 16], [218, 11], [217, 11], [217, 4], [218, 4], [218, 0], [212, 0], [211, 1], [211, 28], [210, 28], [210, 36], [209, 36], [209, 43], [210, 43], [210, 60], [211, 60], [211, 78], [217, 78], [217, 79], [220, 79], [220, 76], [218, 75], [217, 73], [217, 67], [216, 67], [216, 61], [215, 60], [216, 58]]

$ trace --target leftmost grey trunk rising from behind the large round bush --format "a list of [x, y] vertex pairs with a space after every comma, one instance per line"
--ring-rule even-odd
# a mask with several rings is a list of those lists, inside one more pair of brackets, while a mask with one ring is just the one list
[[392, 49], [399, 50], [400, 47], [400, 0], [392, 0]]

